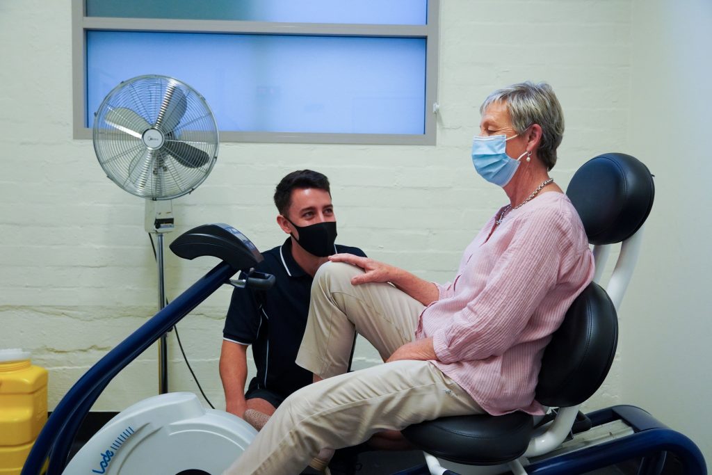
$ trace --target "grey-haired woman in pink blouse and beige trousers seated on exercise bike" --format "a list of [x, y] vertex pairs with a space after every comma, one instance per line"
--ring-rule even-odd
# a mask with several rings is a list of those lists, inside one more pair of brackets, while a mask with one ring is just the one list
[[[576, 210], [548, 174], [564, 129], [550, 85], [496, 90], [480, 110], [473, 165], [509, 203], [444, 285], [372, 259], [331, 256], [315, 276], [297, 357], [316, 384], [283, 403], [228, 473], [298, 474], [320, 449], [437, 417], [543, 413], [534, 399], [541, 357], [591, 281], [593, 256]], [[344, 374], [355, 331], [384, 365]]]

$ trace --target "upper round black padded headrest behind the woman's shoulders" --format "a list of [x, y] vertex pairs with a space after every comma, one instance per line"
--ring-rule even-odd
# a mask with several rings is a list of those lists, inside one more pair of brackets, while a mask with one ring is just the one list
[[566, 194], [583, 221], [591, 244], [613, 244], [632, 236], [650, 214], [655, 196], [648, 167], [630, 155], [605, 153], [586, 162]]

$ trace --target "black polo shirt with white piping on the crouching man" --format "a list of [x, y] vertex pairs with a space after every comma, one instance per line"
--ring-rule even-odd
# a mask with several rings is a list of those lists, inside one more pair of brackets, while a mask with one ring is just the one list
[[[361, 249], [335, 246], [338, 253], [366, 256]], [[312, 276], [292, 257], [292, 239], [262, 253], [256, 271], [276, 278], [268, 291], [235, 288], [225, 319], [223, 337], [241, 345], [252, 345], [257, 367], [253, 380], [259, 388], [281, 397], [310, 384], [310, 372], [295, 364], [309, 313]]]

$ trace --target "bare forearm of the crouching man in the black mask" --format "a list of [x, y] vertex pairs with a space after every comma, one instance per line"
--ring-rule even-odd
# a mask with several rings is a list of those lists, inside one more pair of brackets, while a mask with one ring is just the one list
[[220, 351], [220, 379], [225, 392], [225, 410], [243, 417], [247, 379], [247, 345], [223, 340]]

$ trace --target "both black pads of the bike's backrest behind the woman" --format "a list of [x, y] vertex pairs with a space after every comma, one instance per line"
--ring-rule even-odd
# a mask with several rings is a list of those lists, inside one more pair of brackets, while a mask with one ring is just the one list
[[[608, 153], [586, 162], [566, 191], [589, 242], [615, 244], [640, 229], [655, 194], [648, 168], [630, 155]], [[602, 384], [617, 346], [616, 310], [607, 293], [590, 283], [567, 311], [547, 345], [536, 400], [551, 407], [581, 404]]]

